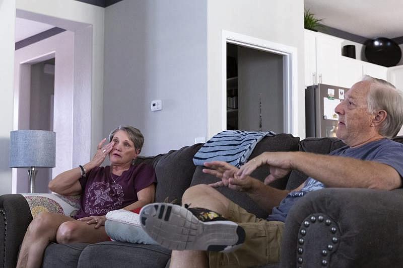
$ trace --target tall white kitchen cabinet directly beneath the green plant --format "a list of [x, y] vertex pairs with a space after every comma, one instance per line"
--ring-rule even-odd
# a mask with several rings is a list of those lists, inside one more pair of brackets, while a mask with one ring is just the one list
[[305, 85], [337, 84], [342, 39], [305, 30]]

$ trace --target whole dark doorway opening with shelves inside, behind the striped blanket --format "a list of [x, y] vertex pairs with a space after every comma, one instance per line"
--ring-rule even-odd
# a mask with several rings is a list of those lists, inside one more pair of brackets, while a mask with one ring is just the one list
[[227, 43], [227, 129], [284, 132], [283, 55]]

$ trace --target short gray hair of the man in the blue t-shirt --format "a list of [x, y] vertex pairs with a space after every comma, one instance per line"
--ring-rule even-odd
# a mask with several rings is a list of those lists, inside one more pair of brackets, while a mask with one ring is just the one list
[[393, 138], [403, 125], [403, 93], [393, 84], [366, 75], [363, 80], [370, 81], [367, 97], [368, 112], [386, 111], [386, 119], [381, 123], [379, 134], [385, 138]]

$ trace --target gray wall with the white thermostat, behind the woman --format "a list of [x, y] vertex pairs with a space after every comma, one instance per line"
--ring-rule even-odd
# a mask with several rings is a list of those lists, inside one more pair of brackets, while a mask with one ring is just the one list
[[[162, 111], [151, 112], [152, 100]], [[154, 155], [207, 136], [207, 3], [125, 0], [105, 9], [104, 133], [120, 124]]]

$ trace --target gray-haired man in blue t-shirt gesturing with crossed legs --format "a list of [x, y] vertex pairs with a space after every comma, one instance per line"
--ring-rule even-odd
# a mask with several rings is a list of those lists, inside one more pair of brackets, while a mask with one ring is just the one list
[[[279, 261], [284, 222], [292, 205], [324, 187], [391, 190], [402, 186], [403, 144], [394, 137], [403, 124], [403, 95], [390, 83], [366, 76], [351, 87], [335, 108], [337, 137], [347, 146], [320, 155], [305, 152], [264, 152], [240, 169], [226, 162], [205, 163], [205, 173], [220, 182], [197, 185], [183, 195], [180, 207], [150, 204], [141, 212], [143, 229], [173, 250], [171, 267], [254, 266]], [[268, 165], [264, 184], [249, 176]], [[294, 191], [268, 184], [291, 169], [309, 175]], [[315, 178], [315, 179], [314, 179]], [[215, 187], [246, 192], [266, 208], [267, 220], [257, 219]]]

